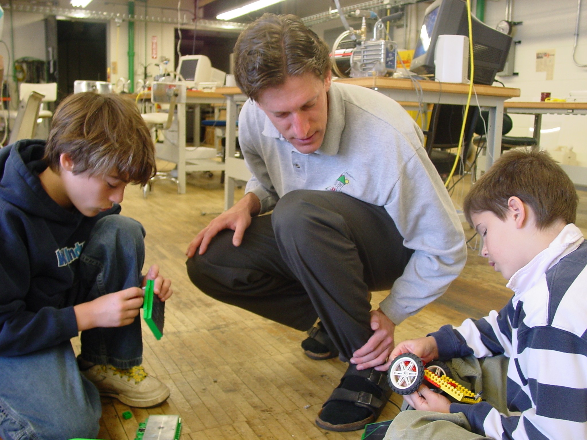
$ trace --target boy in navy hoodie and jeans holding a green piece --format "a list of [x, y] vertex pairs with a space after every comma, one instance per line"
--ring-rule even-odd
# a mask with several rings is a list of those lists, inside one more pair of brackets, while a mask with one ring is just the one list
[[[80, 93], [62, 101], [46, 141], [0, 150], [0, 437], [95, 438], [99, 394], [134, 407], [169, 390], [142, 362], [144, 230], [117, 215], [127, 183], [155, 172], [133, 102]], [[76, 359], [70, 339], [81, 331]]]

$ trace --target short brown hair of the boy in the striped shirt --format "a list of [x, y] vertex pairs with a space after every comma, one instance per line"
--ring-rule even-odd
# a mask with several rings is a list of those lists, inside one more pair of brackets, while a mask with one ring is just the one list
[[538, 229], [558, 219], [575, 222], [578, 196], [573, 182], [546, 151], [511, 150], [495, 161], [465, 197], [467, 222], [472, 225], [471, 214], [484, 211], [505, 220], [512, 196], [534, 211]]

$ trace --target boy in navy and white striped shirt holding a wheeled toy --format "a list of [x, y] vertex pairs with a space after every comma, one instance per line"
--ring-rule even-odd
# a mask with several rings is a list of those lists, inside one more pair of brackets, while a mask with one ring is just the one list
[[544, 151], [504, 154], [471, 188], [465, 216], [514, 296], [483, 319], [404, 341], [390, 358], [465, 358], [487, 401], [451, 403], [422, 386], [404, 397], [419, 411], [400, 412], [386, 439], [587, 438], [587, 243], [573, 224], [577, 202]]

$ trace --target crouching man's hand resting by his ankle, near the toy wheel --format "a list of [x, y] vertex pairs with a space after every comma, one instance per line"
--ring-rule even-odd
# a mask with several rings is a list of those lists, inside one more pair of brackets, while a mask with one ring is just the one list
[[371, 330], [373, 336], [367, 343], [353, 353], [350, 363], [357, 365], [357, 370], [375, 367], [375, 370], [386, 371], [389, 368], [387, 358], [393, 350], [393, 333], [396, 324], [382, 311], [371, 311]]

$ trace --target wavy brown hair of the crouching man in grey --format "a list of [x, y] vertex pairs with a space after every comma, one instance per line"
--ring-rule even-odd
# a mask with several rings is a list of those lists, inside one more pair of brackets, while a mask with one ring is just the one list
[[264, 13], [241, 32], [234, 57], [237, 84], [255, 101], [288, 76], [311, 72], [326, 79], [330, 72], [328, 45], [295, 15]]

